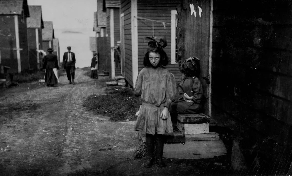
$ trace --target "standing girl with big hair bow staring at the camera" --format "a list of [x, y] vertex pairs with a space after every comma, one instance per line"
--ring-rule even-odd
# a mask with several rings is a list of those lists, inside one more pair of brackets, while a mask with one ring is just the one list
[[144, 65], [138, 74], [135, 95], [141, 96], [142, 105], [135, 125], [135, 130], [146, 134], [147, 161], [145, 167], [150, 168], [155, 158], [159, 167], [164, 167], [162, 160], [164, 133], [173, 132], [168, 109], [175, 101], [176, 83], [174, 75], [165, 67], [168, 57], [163, 48], [167, 46], [165, 40], [156, 42], [149, 39]]

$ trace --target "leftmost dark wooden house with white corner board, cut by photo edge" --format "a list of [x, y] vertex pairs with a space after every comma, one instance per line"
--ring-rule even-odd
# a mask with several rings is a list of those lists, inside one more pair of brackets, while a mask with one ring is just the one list
[[0, 65], [1, 74], [20, 73], [29, 69], [27, 21], [29, 8], [26, 0], [0, 2]]

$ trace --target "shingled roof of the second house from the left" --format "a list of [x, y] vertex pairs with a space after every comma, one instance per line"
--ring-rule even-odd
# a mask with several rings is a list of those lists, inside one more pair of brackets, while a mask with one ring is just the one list
[[28, 6], [30, 16], [27, 18], [27, 27], [44, 28], [41, 6]]

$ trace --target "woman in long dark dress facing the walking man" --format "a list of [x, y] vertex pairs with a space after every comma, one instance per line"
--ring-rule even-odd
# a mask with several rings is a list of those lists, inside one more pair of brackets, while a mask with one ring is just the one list
[[58, 69], [58, 57], [55, 54], [52, 54], [53, 49], [48, 48], [48, 55], [44, 57], [44, 65], [43, 68], [46, 69], [45, 73], [45, 81], [47, 86], [54, 86], [54, 84], [58, 84], [58, 78], [56, 77], [53, 68]]

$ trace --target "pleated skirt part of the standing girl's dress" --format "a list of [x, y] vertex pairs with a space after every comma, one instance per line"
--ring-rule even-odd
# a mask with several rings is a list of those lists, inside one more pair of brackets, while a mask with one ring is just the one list
[[150, 103], [142, 103], [136, 120], [135, 130], [141, 131], [142, 134], [164, 134], [173, 132], [170, 113], [168, 112], [167, 119], [163, 120], [160, 118], [163, 109], [163, 104], [157, 107]]

